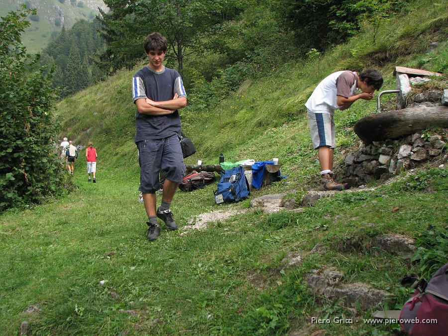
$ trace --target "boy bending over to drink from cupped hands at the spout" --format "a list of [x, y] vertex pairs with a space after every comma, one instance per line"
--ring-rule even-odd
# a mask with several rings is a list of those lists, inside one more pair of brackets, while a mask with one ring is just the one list
[[[320, 190], [350, 188], [349, 184], [340, 184], [333, 179], [335, 111], [348, 109], [358, 99], [371, 100], [375, 90], [379, 90], [382, 85], [383, 77], [375, 69], [365, 70], [360, 75], [354, 71], [337, 71], [319, 83], [305, 104], [313, 147], [319, 150]], [[358, 89], [360, 93], [357, 93]]]

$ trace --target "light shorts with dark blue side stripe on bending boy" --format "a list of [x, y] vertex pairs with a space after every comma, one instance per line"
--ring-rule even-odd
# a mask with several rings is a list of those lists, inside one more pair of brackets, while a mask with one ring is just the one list
[[336, 147], [335, 120], [330, 113], [314, 113], [308, 110], [308, 124], [310, 125], [313, 147]]

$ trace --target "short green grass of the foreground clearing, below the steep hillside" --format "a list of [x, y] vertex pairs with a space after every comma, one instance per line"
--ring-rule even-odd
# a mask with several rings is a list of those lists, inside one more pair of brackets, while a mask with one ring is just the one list
[[[321, 308], [306, 289], [307, 272], [323, 265], [336, 266], [344, 282], [388, 290], [392, 298], [385, 305], [393, 308], [409, 294], [400, 288], [400, 278], [418, 269], [349, 242], [391, 232], [418, 238], [428, 224], [446, 230], [448, 219], [448, 179], [439, 169], [425, 178], [434, 193], [412, 185], [404, 189], [401, 182], [373, 192], [341, 193], [301, 213], [255, 210], [185, 236], [162, 230], [150, 243], [137, 202], [137, 175], [108, 176], [99, 164], [98, 183], [92, 184], [83, 168], [75, 170], [79, 189], [66, 198], [1, 217], [5, 335], [13, 335], [23, 320], [38, 335], [133, 335], [136, 329], [149, 335], [282, 333], [322, 317], [322, 309], [333, 316], [348, 314], [343, 305]], [[215, 187], [178, 192], [173, 211], [181, 227], [194, 215], [223, 208], [214, 204]], [[235, 206], [242, 204], [224, 208]], [[393, 213], [396, 206], [400, 211]], [[327, 252], [307, 256], [316, 243]], [[303, 253], [304, 263], [286, 269], [281, 260], [290, 251]], [[30, 305], [39, 311], [24, 313]], [[322, 327], [337, 335], [389, 330]]]

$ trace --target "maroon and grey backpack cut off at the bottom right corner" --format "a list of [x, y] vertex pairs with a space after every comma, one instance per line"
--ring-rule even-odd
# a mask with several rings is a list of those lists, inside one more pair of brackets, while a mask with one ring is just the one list
[[448, 263], [403, 306], [400, 326], [409, 335], [448, 335]]

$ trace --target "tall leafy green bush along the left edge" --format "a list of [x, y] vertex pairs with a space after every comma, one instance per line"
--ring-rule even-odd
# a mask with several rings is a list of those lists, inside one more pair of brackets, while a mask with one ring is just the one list
[[0, 211], [40, 202], [62, 184], [51, 74], [20, 41], [30, 14], [36, 10], [22, 5], [0, 22]]

